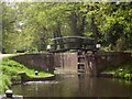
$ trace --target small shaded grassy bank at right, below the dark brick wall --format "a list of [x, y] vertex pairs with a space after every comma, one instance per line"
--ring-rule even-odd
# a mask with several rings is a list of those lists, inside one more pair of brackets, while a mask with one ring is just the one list
[[105, 73], [113, 74], [118, 78], [132, 79], [132, 63], [125, 63], [117, 69], [106, 70]]

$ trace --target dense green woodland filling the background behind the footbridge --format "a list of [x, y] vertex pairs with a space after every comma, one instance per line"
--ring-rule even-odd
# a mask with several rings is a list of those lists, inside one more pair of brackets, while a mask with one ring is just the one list
[[92, 36], [132, 50], [132, 2], [2, 2], [2, 53], [42, 52], [52, 37]]

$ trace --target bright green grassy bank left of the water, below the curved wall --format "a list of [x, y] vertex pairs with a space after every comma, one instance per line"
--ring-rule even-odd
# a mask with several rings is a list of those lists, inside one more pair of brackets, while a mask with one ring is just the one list
[[[11, 88], [11, 78], [12, 77], [16, 77], [18, 79], [20, 79], [20, 76], [18, 75], [19, 73], [26, 73], [26, 75], [29, 77], [36, 77], [35, 76], [35, 70], [33, 68], [29, 68], [26, 66], [24, 66], [23, 64], [20, 64], [15, 61], [12, 61], [9, 57], [4, 57], [2, 59], [2, 66], [0, 66], [0, 72], [2, 72], [2, 84], [0, 84], [0, 94], [3, 94], [7, 89]], [[37, 70], [38, 75], [37, 77], [46, 77], [50, 76], [52, 74], [43, 72], [43, 70]]]

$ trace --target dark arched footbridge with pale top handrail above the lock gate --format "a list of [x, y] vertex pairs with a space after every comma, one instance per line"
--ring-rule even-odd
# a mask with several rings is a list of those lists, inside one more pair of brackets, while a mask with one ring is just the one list
[[47, 51], [50, 53], [64, 53], [68, 51], [92, 51], [96, 52], [94, 37], [84, 37], [84, 36], [63, 36], [52, 38], [50, 45], [47, 45]]

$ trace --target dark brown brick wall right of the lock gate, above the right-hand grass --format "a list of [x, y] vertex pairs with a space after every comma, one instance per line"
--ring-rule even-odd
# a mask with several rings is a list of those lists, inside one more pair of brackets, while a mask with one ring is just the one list
[[86, 55], [86, 68], [88, 74], [98, 76], [105, 69], [117, 68], [130, 61], [132, 61], [131, 53], [98, 52]]

